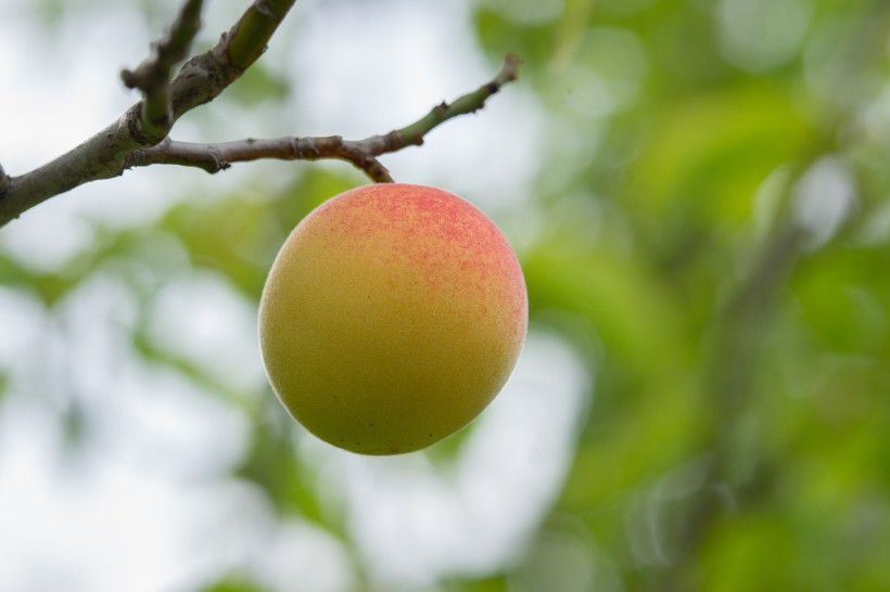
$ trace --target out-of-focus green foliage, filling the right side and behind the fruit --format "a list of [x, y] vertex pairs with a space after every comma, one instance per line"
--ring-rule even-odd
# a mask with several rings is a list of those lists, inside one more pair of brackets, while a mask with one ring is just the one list
[[[577, 346], [597, 398], [525, 557], [441, 589], [890, 589], [890, 4], [545, 4], [561, 7], [482, 0], [473, 26], [493, 64], [522, 56], [521, 83], [547, 117], [529, 214], [543, 230], [522, 253], [532, 321]], [[233, 89], [245, 105], [287, 93], [263, 68], [249, 76]], [[52, 309], [114, 269], [149, 299], [166, 273], [151, 254], [173, 241], [189, 269], [256, 299], [288, 231], [355, 183], [340, 170], [307, 168], [263, 201], [233, 191], [145, 228], [97, 229], [67, 273], [0, 254], [0, 281]], [[238, 477], [348, 543], [280, 415], [135, 344], [254, 401]], [[455, 442], [430, 458], [447, 462]], [[565, 542], [578, 539], [594, 542]]]

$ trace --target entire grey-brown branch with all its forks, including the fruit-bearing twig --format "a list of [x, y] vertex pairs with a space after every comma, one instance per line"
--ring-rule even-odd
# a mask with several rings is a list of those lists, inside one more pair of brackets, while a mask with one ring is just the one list
[[18, 177], [0, 169], [0, 227], [50, 197], [91, 181], [123, 175], [132, 167], [155, 164], [193, 166], [208, 172], [232, 163], [259, 158], [352, 163], [377, 182], [392, 182], [378, 156], [420, 145], [442, 123], [485, 105], [500, 88], [517, 79], [520, 61], [508, 55], [491, 81], [454, 102], [433, 107], [424, 117], [402, 129], [364, 140], [285, 137], [238, 140], [216, 144], [177, 142], [168, 137], [176, 120], [213, 101], [265, 52], [267, 43], [295, 0], [255, 0], [241, 18], [208, 52], [188, 60], [173, 80], [173, 66], [188, 52], [200, 26], [201, 0], [186, 0], [166, 39], [135, 72], [122, 73], [125, 83], [139, 88], [143, 100], [116, 121], [54, 160]]

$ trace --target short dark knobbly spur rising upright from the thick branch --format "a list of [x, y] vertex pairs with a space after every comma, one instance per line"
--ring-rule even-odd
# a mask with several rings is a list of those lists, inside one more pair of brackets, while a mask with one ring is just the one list
[[120, 73], [127, 88], [142, 91], [139, 123], [147, 138], [160, 140], [173, 127], [171, 73], [176, 64], [189, 56], [189, 49], [201, 28], [202, 4], [203, 0], [188, 0], [170, 26], [167, 38], [154, 46], [154, 53], [136, 70]]

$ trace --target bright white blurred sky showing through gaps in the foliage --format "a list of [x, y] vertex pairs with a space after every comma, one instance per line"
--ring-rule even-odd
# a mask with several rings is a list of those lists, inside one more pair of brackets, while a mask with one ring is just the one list
[[[117, 72], [139, 64], [167, 20], [161, 15], [178, 8], [154, 3], [152, 30], [127, 2], [85, 1], [48, 37], [29, 3], [0, 7], [0, 79], [14, 81], [0, 90], [0, 163], [11, 175], [123, 113], [137, 98]], [[242, 4], [208, 2], [203, 38], [227, 29]], [[219, 99], [203, 107], [218, 125], [183, 119], [174, 137], [365, 137], [410, 123], [499, 67], [474, 47], [468, 10], [463, 1], [300, 1], [263, 59], [294, 80], [294, 99], [246, 111]], [[400, 181], [446, 188], [509, 219], [527, 204], [539, 130], [533, 100], [514, 86], [385, 164]], [[183, 186], [213, 198], [262, 166], [213, 177], [153, 167], [91, 183], [4, 228], [0, 248], [60, 268], [89, 244], [85, 220], [140, 223], [181, 198]], [[262, 390], [252, 304], [209, 273], [170, 283], [162, 296], [154, 338]], [[0, 401], [0, 590], [186, 591], [228, 569], [276, 591], [347, 589], [352, 568], [336, 540], [278, 520], [257, 490], [227, 478], [250, 443], [247, 420], [134, 355], [136, 306], [125, 286], [101, 275], [79, 286], [58, 318], [0, 287], [0, 368], [10, 375]], [[207, 359], [212, 346], [229, 355]], [[368, 459], [310, 439], [303, 453], [331, 491], [343, 491], [352, 535], [384, 589], [485, 572], [510, 561], [559, 491], [587, 381], [564, 344], [533, 332], [449, 473], [436, 473], [422, 454]], [[71, 401], [101, 410], [77, 461], [66, 456], [54, 420]]]

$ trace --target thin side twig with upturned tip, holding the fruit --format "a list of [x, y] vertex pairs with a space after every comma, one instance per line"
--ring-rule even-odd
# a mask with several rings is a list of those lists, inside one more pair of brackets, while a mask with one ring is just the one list
[[423, 137], [436, 126], [485, 106], [486, 100], [500, 88], [516, 80], [520, 61], [507, 55], [504, 68], [498, 75], [473, 92], [469, 92], [450, 104], [442, 103], [433, 107], [421, 119], [404, 128], [385, 134], [371, 136], [364, 140], [344, 140], [340, 136], [323, 138], [271, 138], [236, 140], [219, 143], [177, 142], [169, 138], [158, 144], [134, 151], [124, 167], [150, 165], [180, 165], [198, 167], [207, 172], [218, 172], [233, 163], [277, 158], [281, 160], [340, 159], [352, 163], [377, 182], [392, 182], [386, 168], [377, 156], [397, 152], [409, 145], [421, 145]]

